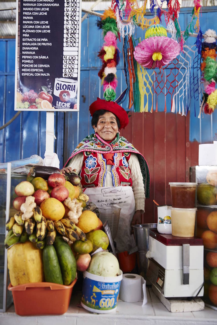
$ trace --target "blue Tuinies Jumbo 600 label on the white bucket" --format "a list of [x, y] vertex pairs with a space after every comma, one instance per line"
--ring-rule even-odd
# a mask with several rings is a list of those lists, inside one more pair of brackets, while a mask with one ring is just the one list
[[101, 312], [114, 309], [117, 306], [120, 283], [121, 281], [99, 282], [84, 277], [81, 303]]

